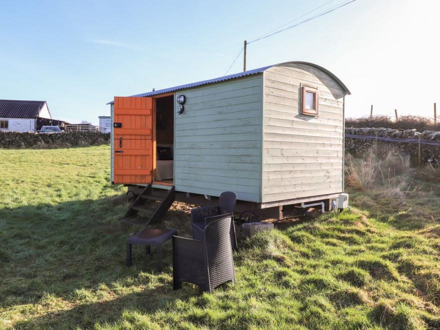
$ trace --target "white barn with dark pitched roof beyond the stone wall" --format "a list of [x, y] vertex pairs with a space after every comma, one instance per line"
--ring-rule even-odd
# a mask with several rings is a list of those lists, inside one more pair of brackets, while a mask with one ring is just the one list
[[46, 101], [0, 99], [1, 131], [36, 132], [42, 125], [58, 122], [52, 119]]

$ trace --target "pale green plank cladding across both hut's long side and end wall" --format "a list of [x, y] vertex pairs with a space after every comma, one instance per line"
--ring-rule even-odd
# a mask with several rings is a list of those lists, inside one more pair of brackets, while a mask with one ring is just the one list
[[[299, 114], [299, 88], [318, 89], [318, 115]], [[344, 90], [306, 64], [180, 90], [177, 190], [273, 202], [343, 191]], [[176, 104], [176, 109], [179, 105]]]

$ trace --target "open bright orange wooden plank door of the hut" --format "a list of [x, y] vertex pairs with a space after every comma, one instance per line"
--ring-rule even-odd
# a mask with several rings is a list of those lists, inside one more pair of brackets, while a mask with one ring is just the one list
[[114, 97], [113, 183], [151, 183], [151, 97]]

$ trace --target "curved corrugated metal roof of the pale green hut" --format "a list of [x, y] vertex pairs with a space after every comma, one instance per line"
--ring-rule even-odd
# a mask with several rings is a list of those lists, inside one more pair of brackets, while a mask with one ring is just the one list
[[[206, 85], [206, 84], [209, 84], [209, 83], [220, 82], [220, 81], [225, 81], [225, 80], [229, 80], [229, 79], [235, 79], [235, 78], [244, 77], [244, 76], [247, 76], [247, 75], [261, 73], [261, 72], [267, 70], [268, 68], [270, 68], [272, 66], [278, 66], [278, 65], [288, 64], [288, 63], [306, 64], [306, 65], [314, 66], [315, 68], [317, 68], [317, 69], [327, 73], [334, 80], [336, 80], [336, 82], [343, 88], [343, 90], [348, 95], [351, 94], [351, 92], [343, 84], [343, 82], [340, 81], [337, 76], [335, 76], [333, 73], [328, 71], [326, 68], [324, 68], [322, 66], [319, 66], [317, 64], [309, 63], [309, 62], [289, 61], [289, 62], [283, 62], [283, 63], [273, 64], [273, 65], [267, 65], [267, 66], [259, 67], [259, 68], [253, 69], [253, 70], [247, 70], [247, 71], [238, 72], [238, 73], [234, 73], [234, 74], [224, 75], [224, 76], [213, 78], [213, 79], [201, 80], [201, 81], [186, 83], [186, 84], [183, 84], [183, 85], [178, 85], [178, 86], [169, 87], [169, 88], [163, 88], [163, 89], [157, 89], [157, 90], [154, 90], [154, 91], [149, 91], [149, 92], [141, 93], [141, 94], [134, 94], [134, 95], [130, 95], [130, 96], [132, 96], [132, 97], [143, 97], [143, 96], [154, 96], [154, 95], [158, 95], [158, 94], [169, 93], [171, 91], [176, 91], [176, 90], [180, 90], [180, 89], [192, 88], [192, 87], [197, 87], [197, 86], [201, 86], [201, 85]], [[112, 103], [113, 103], [113, 101], [110, 101], [110, 102], [108, 102], [106, 104], [112, 104]]]

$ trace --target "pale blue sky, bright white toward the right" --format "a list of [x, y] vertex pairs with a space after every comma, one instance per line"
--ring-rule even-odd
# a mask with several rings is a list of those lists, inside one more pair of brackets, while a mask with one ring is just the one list
[[[97, 123], [115, 95], [223, 75], [244, 39], [327, 1], [1, 1], [0, 98], [47, 100], [54, 118]], [[356, 0], [250, 44], [247, 68], [314, 62], [351, 90], [347, 116], [370, 104], [432, 115], [439, 10], [436, 0]], [[240, 70], [242, 55], [229, 73]]]

